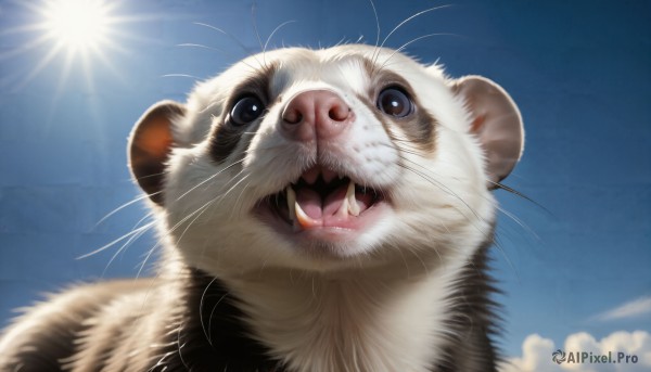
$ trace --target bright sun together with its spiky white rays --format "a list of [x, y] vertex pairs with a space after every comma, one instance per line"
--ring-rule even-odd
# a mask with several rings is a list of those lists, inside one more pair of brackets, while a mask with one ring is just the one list
[[41, 73], [58, 65], [61, 70], [58, 73], [60, 84], [56, 94], [67, 88], [67, 78], [71, 76], [82, 75], [91, 89], [94, 89], [93, 76], [98, 72], [111, 72], [119, 76], [119, 70], [114, 65], [117, 60], [115, 53], [126, 53], [122, 41], [131, 37], [125, 24], [140, 20], [133, 15], [119, 14], [124, 13], [125, 1], [22, 1], [18, 9], [31, 22], [8, 29], [4, 34], [27, 34], [34, 37], [10, 52], [0, 52], [0, 60], [34, 51], [39, 51], [42, 55], [30, 60], [35, 62], [33, 67], [15, 79], [13, 89], [23, 89]]

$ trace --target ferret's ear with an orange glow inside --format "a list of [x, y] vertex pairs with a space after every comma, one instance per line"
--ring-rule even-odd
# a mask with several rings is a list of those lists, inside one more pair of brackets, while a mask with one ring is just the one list
[[129, 139], [128, 158], [131, 175], [149, 197], [163, 204], [165, 167], [174, 143], [173, 120], [186, 114], [177, 102], [161, 101], [138, 120]]

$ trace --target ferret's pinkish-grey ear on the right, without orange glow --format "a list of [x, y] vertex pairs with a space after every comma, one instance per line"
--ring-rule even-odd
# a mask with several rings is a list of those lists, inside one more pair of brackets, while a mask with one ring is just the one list
[[505, 179], [522, 155], [524, 128], [520, 111], [511, 97], [495, 82], [481, 76], [467, 76], [452, 84], [470, 110], [474, 133], [486, 159], [488, 189]]

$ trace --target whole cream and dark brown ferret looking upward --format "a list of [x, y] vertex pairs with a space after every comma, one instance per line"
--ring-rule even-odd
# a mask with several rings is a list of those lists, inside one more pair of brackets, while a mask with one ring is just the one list
[[252, 55], [136, 124], [155, 278], [73, 287], [1, 371], [495, 371], [493, 190], [522, 119], [480, 76], [345, 44]]

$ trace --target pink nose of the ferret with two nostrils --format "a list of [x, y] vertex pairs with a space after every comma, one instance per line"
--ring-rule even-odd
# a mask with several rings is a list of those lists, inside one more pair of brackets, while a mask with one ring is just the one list
[[337, 94], [309, 90], [288, 103], [280, 130], [293, 141], [327, 140], [337, 137], [354, 119], [353, 111]]

